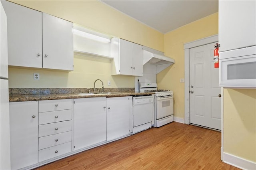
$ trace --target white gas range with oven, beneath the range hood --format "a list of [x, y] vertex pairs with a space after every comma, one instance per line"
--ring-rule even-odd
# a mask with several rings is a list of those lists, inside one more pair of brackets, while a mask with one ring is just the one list
[[159, 90], [157, 84], [140, 82], [140, 92], [154, 92], [154, 120], [153, 127], [161, 127], [174, 121], [173, 92]]

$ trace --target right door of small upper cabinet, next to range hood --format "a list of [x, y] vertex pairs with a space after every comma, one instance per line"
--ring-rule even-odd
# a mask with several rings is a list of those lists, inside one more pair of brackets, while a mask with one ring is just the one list
[[132, 75], [143, 76], [143, 48], [136, 43], [132, 43]]

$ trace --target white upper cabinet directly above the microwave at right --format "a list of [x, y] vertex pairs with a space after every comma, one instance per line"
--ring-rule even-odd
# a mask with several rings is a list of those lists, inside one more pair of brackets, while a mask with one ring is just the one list
[[219, 0], [219, 51], [256, 45], [256, 1]]

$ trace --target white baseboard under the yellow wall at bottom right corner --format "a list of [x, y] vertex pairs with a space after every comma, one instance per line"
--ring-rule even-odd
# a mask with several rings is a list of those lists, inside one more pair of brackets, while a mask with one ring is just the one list
[[256, 162], [252, 162], [225, 152], [223, 153], [223, 162], [243, 170], [256, 170]]

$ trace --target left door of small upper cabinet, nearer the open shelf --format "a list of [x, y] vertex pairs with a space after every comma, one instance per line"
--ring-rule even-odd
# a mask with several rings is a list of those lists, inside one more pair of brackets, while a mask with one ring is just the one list
[[119, 70], [122, 75], [132, 75], [132, 42], [119, 39]]

